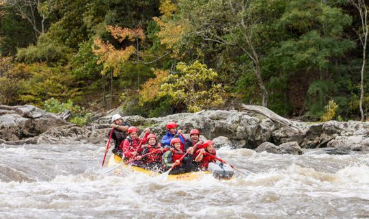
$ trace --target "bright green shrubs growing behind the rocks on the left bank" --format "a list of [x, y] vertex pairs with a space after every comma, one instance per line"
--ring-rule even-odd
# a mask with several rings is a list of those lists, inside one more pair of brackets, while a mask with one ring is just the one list
[[79, 126], [86, 125], [91, 121], [92, 118], [92, 114], [85, 110], [84, 107], [74, 105], [74, 103], [69, 99], [66, 103], [61, 103], [54, 98], [48, 99], [44, 101], [44, 110], [52, 113], [59, 113], [70, 110], [72, 116], [69, 118], [69, 122], [77, 124]]

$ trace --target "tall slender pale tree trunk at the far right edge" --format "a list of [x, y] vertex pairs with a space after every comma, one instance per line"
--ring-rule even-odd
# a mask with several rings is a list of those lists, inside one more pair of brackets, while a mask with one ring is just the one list
[[355, 31], [357, 36], [359, 36], [361, 46], [363, 47], [363, 61], [361, 64], [361, 72], [360, 72], [360, 102], [359, 109], [361, 114], [361, 121], [364, 120], [364, 110], [363, 110], [363, 101], [364, 101], [364, 72], [366, 67], [366, 45], [368, 43], [368, 8], [366, 8], [366, 4], [364, 0], [349, 0], [351, 4], [355, 6], [355, 8], [359, 12], [359, 18], [361, 22], [361, 27], [359, 31]]

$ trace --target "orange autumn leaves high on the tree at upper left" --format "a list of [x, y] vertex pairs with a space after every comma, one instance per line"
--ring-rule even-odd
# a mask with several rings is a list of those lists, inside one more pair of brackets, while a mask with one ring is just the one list
[[[141, 28], [129, 29], [122, 27], [113, 27], [108, 25], [107, 31], [111, 33], [116, 40], [123, 42], [129, 40], [135, 42], [136, 40], [145, 40], [145, 34]], [[100, 38], [95, 38], [94, 47], [92, 48], [94, 54], [99, 55], [97, 64], [103, 64], [101, 74], [105, 75], [109, 70], [113, 70], [113, 76], [117, 77], [122, 70], [122, 64], [129, 60], [131, 55], [136, 53], [136, 48], [133, 45], [128, 45], [124, 49], [115, 49], [115, 47], [109, 42], [103, 42]]]

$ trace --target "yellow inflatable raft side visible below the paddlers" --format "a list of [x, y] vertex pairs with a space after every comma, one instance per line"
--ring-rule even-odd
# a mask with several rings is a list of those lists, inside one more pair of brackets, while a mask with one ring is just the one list
[[[160, 173], [151, 171], [151, 170], [146, 170], [137, 166], [132, 166], [132, 165], [128, 165], [128, 164], [124, 164], [122, 163], [122, 158], [117, 156], [117, 155], [111, 155], [109, 158], [109, 161], [107, 163], [107, 168], [111, 168], [113, 166], [122, 166], [122, 168], [117, 168], [114, 171], [115, 175], [120, 175], [122, 170], [131, 170], [133, 172], [137, 171], [137, 172], [143, 172], [147, 175], [150, 175], [152, 177], [154, 176], [159, 176], [161, 175]], [[179, 175], [168, 175], [166, 181], [191, 181], [194, 179], [201, 179], [202, 177], [204, 177], [205, 175], [211, 175], [211, 172], [208, 171], [198, 171], [198, 172], [187, 172], [187, 173], [182, 173]]]

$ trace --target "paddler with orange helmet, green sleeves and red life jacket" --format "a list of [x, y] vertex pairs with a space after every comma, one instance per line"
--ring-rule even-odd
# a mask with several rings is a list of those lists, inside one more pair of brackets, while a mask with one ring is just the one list
[[169, 172], [169, 175], [178, 175], [184, 172], [191, 172], [193, 170], [192, 148], [189, 149], [189, 153], [182, 159], [182, 162], [180, 162], [180, 158], [184, 155], [183, 151], [180, 149], [181, 142], [180, 138], [172, 138], [170, 141], [171, 147], [169, 151], [163, 154], [164, 171], [169, 170], [174, 164], [176, 164], [176, 167]]

